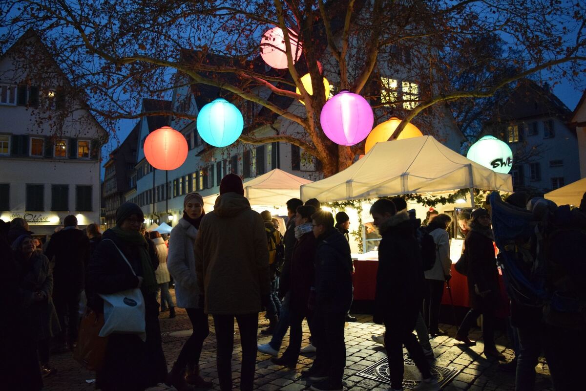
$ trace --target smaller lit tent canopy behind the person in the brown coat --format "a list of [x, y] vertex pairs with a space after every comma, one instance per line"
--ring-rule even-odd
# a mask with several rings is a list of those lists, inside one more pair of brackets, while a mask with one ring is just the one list
[[[312, 181], [275, 168], [244, 182], [244, 196], [250, 205], [285, 205], [289, 199], [299, 198], [299, 187], [308, 183]], [[213, 210], [218, 195], [203, 198], [205, 210]]]

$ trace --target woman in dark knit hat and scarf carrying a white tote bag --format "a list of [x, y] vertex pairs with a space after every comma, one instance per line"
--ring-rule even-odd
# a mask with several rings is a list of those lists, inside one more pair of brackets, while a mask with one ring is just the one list
[[147, 240], [139, 231], [144, 215], [138, 205], [123, 203], [115, 218], [116, 226], [104, 232], [88, 264], [88, 306], [103, 312], [104, 302], [99, 294], [140, 288], [145, 302], [147, 338], [143, 342], [137, 334], [111, 334], [103, 368], [96, 373], [96, 386], [104, 391], [138, 391], [164, 382], [167, 375], [156, 302], [158, 259], [149, 251]]

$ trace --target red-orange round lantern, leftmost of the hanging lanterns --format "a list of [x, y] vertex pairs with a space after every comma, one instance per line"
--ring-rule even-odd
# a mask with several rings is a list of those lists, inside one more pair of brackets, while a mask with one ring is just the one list
[[179, 168], [187, 158], [188, 149], [185, 137], [168, 126], [152, 131], [145, 138], [145, 158], [154, 168], [164, 170]]

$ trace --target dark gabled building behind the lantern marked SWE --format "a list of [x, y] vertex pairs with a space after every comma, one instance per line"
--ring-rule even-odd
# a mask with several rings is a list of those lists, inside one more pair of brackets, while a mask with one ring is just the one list
[[580, 179], [571, 111], [548, 86], [521, 81], [499, 107], [490, 132], [513, 151], [513, 187], [540, 195]]

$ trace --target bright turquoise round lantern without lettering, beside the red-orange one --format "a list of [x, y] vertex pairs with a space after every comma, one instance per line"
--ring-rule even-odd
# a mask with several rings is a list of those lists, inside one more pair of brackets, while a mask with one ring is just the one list
[[214, 147], [226, 147], [238, 140], [244, 128], [240, 110], [224, 98], [206, 104], [197, 115], [197, 131], [203, 141]]

